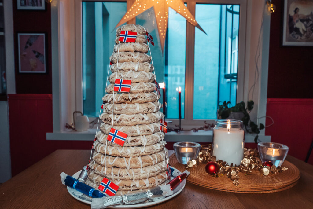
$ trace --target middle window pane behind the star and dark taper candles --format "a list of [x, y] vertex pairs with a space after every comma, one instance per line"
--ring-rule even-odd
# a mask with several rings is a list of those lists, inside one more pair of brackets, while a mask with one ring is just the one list
[[[186, 5], [186, 4], [185, 4]], [[187, 5], [186, 5], [187, 6]], [[155, 46], [151, 46], [151, 55], [158, 83], [165, 82], [166, 118], [178, 118], [178, 92], [182, 88], [182, 118], [185, 104], [185, 63], [186, 63], [186, 19], [169, 8], [168, 29], [162, 55], [153, 8], [136, 17], [136, 24], [142, 25], [153, 36]], [[149, 54], [150, 55], [150, 54]], [[159, 100], [163, 102], [163, 97]], [[164, 108], [164, 107], [163, 107]]]

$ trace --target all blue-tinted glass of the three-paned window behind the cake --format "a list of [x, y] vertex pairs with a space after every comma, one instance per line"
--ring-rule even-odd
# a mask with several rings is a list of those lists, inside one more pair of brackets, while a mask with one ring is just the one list
[[[126, 3], [82, 4], [83, 110], [86, 115], [97, 116], [98, 104], [105, 91], [105, 72], [109, 66], [109, 61], [105, 63], [103, 60], [108, 60], [110, 56], [115, 36], [113, 23], [118, 22], [126, 12]], [[118, 12], [114, 9], [117, 7], [120, 8]], [[189, 38], [186, 19], [169, 8], [164, 57], [160, 47], [152, 48], [151, 52], [157, 81], [166, 84], [166, 118], [178, 118], [176, 88], [179, 86], [182, 88], [182, 119], [185, 116], [185, 100], [192, 99], [190, 96], [185, 97], [186, 88], [193, 89], [192, 119], [216, 119], [219, 101], [230, 100], [233, 104], [236, 103], [239, 8], [239, 5], [195, 5], [196, 20], [208, 35], [195, 29], [194, 67], [188, 69], [194, 72], [193, 87], [185, 86], [186, 39]], [[156, 28], [149, 28], [147, 18], [153, 21], [152, 8], [137, 16], [136, 24], [143, 25], [157, 37]]]

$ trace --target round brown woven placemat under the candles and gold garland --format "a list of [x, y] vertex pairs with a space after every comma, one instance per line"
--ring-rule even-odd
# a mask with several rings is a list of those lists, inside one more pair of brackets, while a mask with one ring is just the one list
[[[177, 168], [179, 171], [185, 171], [185, 166], [180, 164], [175, 154], [170, 156], [170, 166]], [[288, 170], [278, 174], [269, 174], [268, 176], [260, 175], [260, 171], [255, 169], [247, 176], [239, 173], [239, 185], [233, 184], [232, 180], [225, 176], [213, 177], [205, 171], [205, 164], [199, 163], [196, 168], [188, 169], [190, 175], [186, 178], [188, 182], [207, 187], [210, 189], [238, 192], [238, 193], [270, 193], [289, 189], [294, 186], [299, 178], [300, 171], [292, 163], [284, 161], [282, 167]]]

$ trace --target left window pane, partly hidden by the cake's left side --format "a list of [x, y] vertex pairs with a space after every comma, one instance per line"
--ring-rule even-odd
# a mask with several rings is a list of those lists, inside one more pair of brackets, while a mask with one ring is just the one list
[[126, 13], [126, 2], [82, 2], [82, 8], [83, 112], [95, 117], [105, 93], [114, 28]]

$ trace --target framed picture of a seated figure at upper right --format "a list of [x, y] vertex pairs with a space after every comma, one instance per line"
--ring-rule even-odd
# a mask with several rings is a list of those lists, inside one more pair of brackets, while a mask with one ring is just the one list
[[313, 46], [313, 0], [285, 0], [283, 46]]

